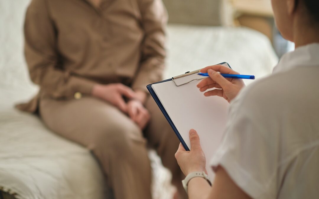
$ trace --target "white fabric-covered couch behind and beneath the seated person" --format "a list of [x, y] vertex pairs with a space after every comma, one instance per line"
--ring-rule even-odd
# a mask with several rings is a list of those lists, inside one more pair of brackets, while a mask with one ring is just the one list
[[[37, 116], [13, 108], [38, 89], [23, 58], [28, 3], [0, 1], [0, 190], [20, 199], [109, 198], [99, 165], [87, 149], [49, 131]], [[269, 40], [249, 29], [169, 25], [168, 38], [165, 78], [223, 61], [260, 78], [278, 61]], [[154, 198], [168, 198], [170, 175], [153, 152], [150, 157]]]

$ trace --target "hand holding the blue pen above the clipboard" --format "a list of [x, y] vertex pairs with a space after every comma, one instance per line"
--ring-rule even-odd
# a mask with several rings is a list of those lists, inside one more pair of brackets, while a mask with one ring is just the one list
[[[223, 65], [208, 66], [201, 69], [200, 72], [207, 73], [209, 77], [203, 79], [197, 84], [199, 90], [204, 92], [207, 89], [216, 88], [214, 90], [205, 92], [204, 96], [220, 96], [224, 97], [228, 102], [230, 102], [245, 86], [242, 78], [238, 78], [238, 75], [240, 75], [239, 73]], [[227, 76], [223, 77], [222, 74], [231, 76], [229, 76], [230, 78], [227, 78]], [[237, 75], [237, 78], [235, 78], [233, 75]]]

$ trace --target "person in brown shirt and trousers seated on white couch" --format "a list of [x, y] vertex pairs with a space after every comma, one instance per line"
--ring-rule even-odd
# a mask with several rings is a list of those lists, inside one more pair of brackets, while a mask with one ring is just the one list
[[116, 199], [151, 199], [152, 146], [173, 173], [179, 141], [148, 95], [165, 60], [161, 0], [33, 0], [25, 56], [40, 91], [20, 110], [92, 150]]

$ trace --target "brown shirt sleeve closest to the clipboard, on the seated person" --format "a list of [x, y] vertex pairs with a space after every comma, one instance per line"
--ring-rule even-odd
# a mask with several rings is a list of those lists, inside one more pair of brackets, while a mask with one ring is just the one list
[[133, 89], [145, 90], [148, 84], [162, 79], [165, 65], [165, 28], [167, 11], [161, 0], [140, 0], [142, 27], [145, 32], [142, 57]]

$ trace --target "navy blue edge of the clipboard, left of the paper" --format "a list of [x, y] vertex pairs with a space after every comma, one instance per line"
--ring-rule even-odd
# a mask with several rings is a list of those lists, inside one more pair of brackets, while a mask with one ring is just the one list
[[[229, 68], [231, 68], [230, 65], [227, 62], [222, 62], [222, 63], [219, 63], [219, 64], [225, 64], [225, 63], [229, 66]], [[216, 64], [216, 65], [218, 65], [218, 64]], [[167, 80], [163, 80], [163, 81], [160, 81], [160, 82], [152, 83], [152, 84], [158, 84], [158, 83], [163, 83], [163, 82], [168, 82], [168, 81], [172, 81], [172, 78], [171, 79], [167, 79]], [[159, 106], [159, 109], [162, 111], [162, 113], [165, 116], [165, 118], [167, 119], [168, 123], [173, 128], [176, 136], [178, 137], [178, 139], [181, 141], [182, 145], [184, 146], [184, 149], [186, 151], [189, 151], [189, 148], [186, 145], [185, 141], [183, 140], [181, 134], [177, 131], [176, 126], [174, 125], [173, 121], [169, 117], [168, 113], [166, 112], [164, 106], [160, 102], [160, 100], [159, 100], [158, 96], [156, 95], [155, 91], [152, 89], [152, 84], [149, 84], [149, 85], [146, 86], [147, 90], [150, 92], [150, 94], [153, 97], [153, 99], [155, 100], [156, 104]]]

